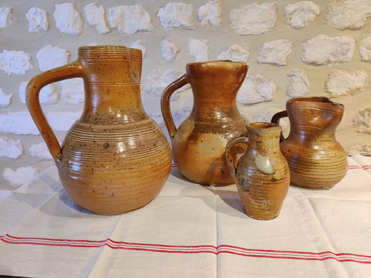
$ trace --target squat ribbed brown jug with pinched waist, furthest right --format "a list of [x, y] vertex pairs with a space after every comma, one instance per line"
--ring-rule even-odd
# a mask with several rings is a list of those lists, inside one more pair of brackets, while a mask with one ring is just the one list
[[344, 149], [335, 132], [344, 105], [327, 97], [298, 97], [286, 102], [286, 110], [277, 113], [272, 123], [289, 117], [290, 133], [281, 133], [281, 151], [290, 167], [293, 186], [307, 189], [330, 189], [348, 171]]

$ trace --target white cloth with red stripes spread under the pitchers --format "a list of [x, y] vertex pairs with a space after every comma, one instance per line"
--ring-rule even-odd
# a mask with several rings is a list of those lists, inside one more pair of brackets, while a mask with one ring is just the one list
[[92, 214], [55, 166], [0, 201], [0, 274], [26, 277], [371, 277], [371, 158], [328, 191], [290, 187], [278, 218], [246, 216], [236, 185], [176, 168], [137, 211]]

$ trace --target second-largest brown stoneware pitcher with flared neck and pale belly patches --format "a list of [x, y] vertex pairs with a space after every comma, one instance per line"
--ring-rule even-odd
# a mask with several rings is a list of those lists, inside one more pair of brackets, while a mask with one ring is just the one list
[[[236, 96], [248, 68], [231, 61], [190, 63], [186, 74], [164, 90], [161, 109], [173, 160], [188, 180], [214, 186], [234, 183], [224, 152], [230, 139], [246, 132], [247, 120], [237, 109]], [[193, 109], [177, 129], [171, 116], [170, 96], [188, 83], [193, 92]], [[233, 156], [243, 152], [243, 145], [236, 146]]]

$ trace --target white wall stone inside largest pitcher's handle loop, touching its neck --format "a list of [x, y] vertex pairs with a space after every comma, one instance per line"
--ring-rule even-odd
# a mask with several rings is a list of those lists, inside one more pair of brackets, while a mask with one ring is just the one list
[[62, 98], [67, 104], [78, 105], [84, 102], [85, 90], [82, 78], [72, 78], [62, 80]]

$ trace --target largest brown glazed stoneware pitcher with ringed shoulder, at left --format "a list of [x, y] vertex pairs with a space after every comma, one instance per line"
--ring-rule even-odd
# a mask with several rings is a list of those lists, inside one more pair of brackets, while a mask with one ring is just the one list
[[[147, 205], [170, 173], [170, 146], [142, 106], [141, 67], [138, 49], [84, 46], [75, 62], [43, 72], [27, 85], [27, 107], [64, 189], [97, 214], [122, 214]], [[84, 81], [85, 105], [60, 147], [39, 93], [49, 83], [74, 77]]]

